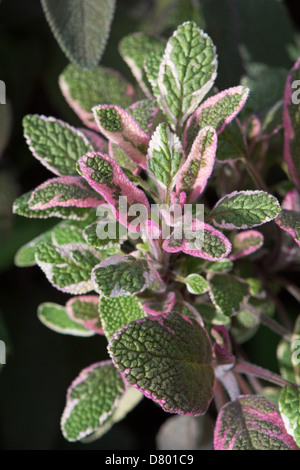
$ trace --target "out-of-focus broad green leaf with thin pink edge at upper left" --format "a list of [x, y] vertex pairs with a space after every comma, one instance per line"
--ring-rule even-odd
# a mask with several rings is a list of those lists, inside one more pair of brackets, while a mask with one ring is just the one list
[[123, 108], [134, 101], [132, 85], [118, 72], [106, 67], [81, 70], [68, 65], [59, 77], [59, 86], [67, 103], [82, 122], [98, 130], [92, 108], [97, 104], [118, 104]]

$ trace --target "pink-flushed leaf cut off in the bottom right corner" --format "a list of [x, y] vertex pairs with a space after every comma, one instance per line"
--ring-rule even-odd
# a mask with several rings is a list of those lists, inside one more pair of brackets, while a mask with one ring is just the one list
[[219, 412], [215, 450], [299, 450], [277, 408], [266, 398], [242, 395]]

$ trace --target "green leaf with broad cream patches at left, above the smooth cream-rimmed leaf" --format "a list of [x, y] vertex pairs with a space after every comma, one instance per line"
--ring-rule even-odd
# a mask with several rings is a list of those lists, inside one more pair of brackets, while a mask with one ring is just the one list
[[35, 256], [37, 264], [57, 289], [75, 295], [93, 289], [91, 270], [101, 258], [92, 247], [82, 243], [61, 247], [41, 243]]

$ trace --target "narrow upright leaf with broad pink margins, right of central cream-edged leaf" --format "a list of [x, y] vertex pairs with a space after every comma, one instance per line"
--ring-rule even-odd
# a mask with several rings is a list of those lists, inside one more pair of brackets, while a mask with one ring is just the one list
[[202, 194], [214, 167], [216, 150], [216, 131], [212, 127], [205, 127], [197, 135], [186, 161], [178, 172], [178, 195], [184, 192], [192, 202]]

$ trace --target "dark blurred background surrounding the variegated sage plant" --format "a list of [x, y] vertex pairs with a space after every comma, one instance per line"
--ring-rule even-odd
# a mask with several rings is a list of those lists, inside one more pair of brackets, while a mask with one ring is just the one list
[[[241, 81], [249, 84], [248, 112], [257, 104], [263, 108], [277, 103], [285, 72], [300, 55], [300, 21], [290, 1], [285, 5], [277, 0], [118, 0], [101, 63], [133, 81], [118, 53], [121, 38], [134, 31], [168, 36], [185, 20], [196, 21], [213, 39], [220, 89]], [[106, 343], [90, 338], [83, 350], [81, 338], [47, 330], [37, 319], [37, 306], [45, 300], [64, 303], [67, 296], [55, 292], [38, 268], [14, 266], [17, 249], [55, 223], [28, 223], [11, 215], [16, 195], [49, 177], [25, 144], [22, 118], [29, 113], [53, 115], [81, 125], [58, 87], [58, 75], [67, 64], [40, 2], [1, 1], [0, 79], [9, 104], [0, 105], [0, 332], [5, 328], [9, 335], [10, 351], [0, 375], [0, 449], [107, 450], [116, 443], [119, 450], [155, 448], [155, 434], [167, 417], [147, 399], [100, 441], [83, 445], [63, 439], [58, 423], [66, 389], [95, 361], [95, 352], [99, 359], [105, 357]], [[283, 301], [294, 314], [291, 296]], [[246, 348], [254, 353], [254, 362], [274, 368], [277, 338], [268, 335], [268, 351], [265, 329]]]

